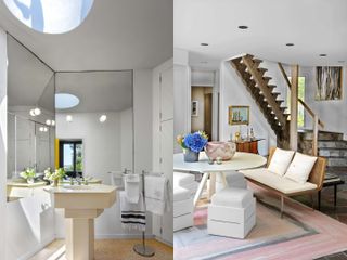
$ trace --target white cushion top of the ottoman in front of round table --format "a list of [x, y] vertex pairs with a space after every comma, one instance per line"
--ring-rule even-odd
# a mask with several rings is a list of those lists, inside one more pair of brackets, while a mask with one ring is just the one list
[[253, 192], [246, 188], [226, 187], [216, 193], [211, 198], [211, 205], [233, 208], [245, 208], [253, 199]]

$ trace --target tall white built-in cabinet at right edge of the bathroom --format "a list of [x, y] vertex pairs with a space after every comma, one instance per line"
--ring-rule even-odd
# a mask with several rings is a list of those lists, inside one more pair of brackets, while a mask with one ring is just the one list
[[[153, 170], [174, 182], [174, 64], [172, 60], [153, 73]], [[171, 200], [172, 204], [172, 200]], [[153, 234], [174, 243], [172, 207], [163, 217], [153, 216]]]

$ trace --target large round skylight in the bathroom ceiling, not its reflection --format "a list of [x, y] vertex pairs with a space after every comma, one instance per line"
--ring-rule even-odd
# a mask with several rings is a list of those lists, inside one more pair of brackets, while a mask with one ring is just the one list
[[23, 24], [40, 32], [63, 34], [78, 27], [93, 0], [3, 0]]

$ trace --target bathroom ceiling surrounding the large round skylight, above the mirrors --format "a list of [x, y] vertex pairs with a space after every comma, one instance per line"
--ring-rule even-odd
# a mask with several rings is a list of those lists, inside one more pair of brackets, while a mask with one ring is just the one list
[[62, 35], [35, 31], [0, 0], [0, 26], [54, 70], [152, 68], [172, 56], [172, 0], [95, 0]]

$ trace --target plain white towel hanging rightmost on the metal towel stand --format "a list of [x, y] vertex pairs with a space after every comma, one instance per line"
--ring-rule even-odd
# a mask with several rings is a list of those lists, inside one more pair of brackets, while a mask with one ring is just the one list
[[145, 205], [146, 210], [163, 216], [170, 210], [171, 186], [165, 177], [145, 177]]

